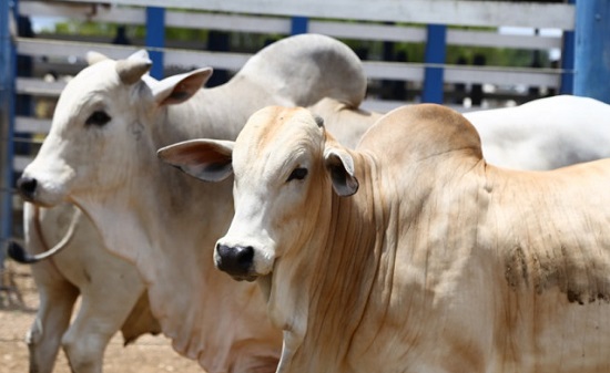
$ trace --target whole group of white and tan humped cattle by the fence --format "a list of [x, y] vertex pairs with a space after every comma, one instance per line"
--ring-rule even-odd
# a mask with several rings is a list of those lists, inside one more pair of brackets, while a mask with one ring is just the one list
[[609, 105], [368, 112], [317, 34], [213, 89], [89, 62], [18, 180], [30, 372], [100, 373], [119, 330], [209, 373], [610, 372]]

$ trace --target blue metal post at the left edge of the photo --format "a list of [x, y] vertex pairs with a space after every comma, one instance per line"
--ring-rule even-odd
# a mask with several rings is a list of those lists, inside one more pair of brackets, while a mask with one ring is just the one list
[[0, 1], [0, 268], [12, 231], [12, 163], [14, 133], [16, 45], [10, 20], [17, 23], [17, 0]]

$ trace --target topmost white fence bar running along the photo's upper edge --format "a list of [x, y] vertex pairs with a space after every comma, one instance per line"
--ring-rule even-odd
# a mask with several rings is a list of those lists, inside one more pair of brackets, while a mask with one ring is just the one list
[[[109, 3], [140, 7], [167, 7], [251, 14], [302, 15], [312, 18], [435, 23], [479, 27], [530, 27], [573, 30], [575, 8], [508, 1], [464, 0], [64, 0], [65, 2]], [[541, 15], [543, 14], [543, 15]]]

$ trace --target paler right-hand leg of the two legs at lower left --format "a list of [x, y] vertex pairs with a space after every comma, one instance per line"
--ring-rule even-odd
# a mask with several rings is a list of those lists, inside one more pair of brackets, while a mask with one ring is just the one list
[[[108, 272], [106, 277], [110, 277]], [[144, 291], [139, 279], [131, 282], [123, 280], [113, 281], [109, 278], [105, 283], [93, 281], [96, 287], [81, 289], [81, 308], [62, 339], [72, 372], [102, 372], [108, 343], [121, 329]]]

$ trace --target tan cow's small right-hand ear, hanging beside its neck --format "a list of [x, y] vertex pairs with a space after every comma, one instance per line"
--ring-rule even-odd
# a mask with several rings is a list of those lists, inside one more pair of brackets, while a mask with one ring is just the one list
[[329, 147], [324, 152], [324, 165], [331, 174], [333, 189], [340, 197], [358, 191], [358, 180], [354, 173], [354, 158], [345, 149]]

